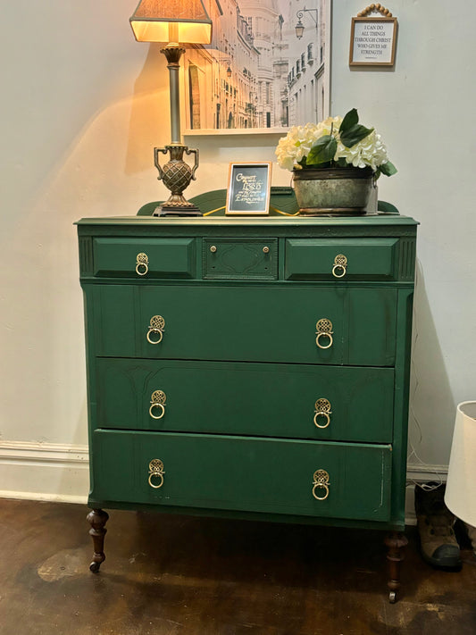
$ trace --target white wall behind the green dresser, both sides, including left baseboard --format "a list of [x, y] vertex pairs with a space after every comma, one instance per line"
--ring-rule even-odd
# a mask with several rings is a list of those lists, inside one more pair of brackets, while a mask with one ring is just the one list
[[[76, 233], [83, 216], [133, 214], [165, 196], [153, 147], [169, 140], [158, 46], [129, 29], [135, 0], [5, 4], [0, 39], [0, 494], [84, 499], [88, 489], [82, 297]], [[392, 71], [350, 71], [350, 19], [334, 0], [333, 113], [357, 107], [387, 141], [399, 173], [380, 198], [422, 225], [411, 438], [447, 464], [455, 404], [476, 398], [476, 221], [470, 197], [472, 23], [430, 0], [393, 0]], [[225, 187], [230, 160], [272, 159], [275, 136], [189, 137], [201, 166], [188, 196]], [[273, 183], [289, 175], [278, 167]], [[422, 442], [415, 419], [422, 430]], [[41, 475], [38, 477], [38, 475]]]

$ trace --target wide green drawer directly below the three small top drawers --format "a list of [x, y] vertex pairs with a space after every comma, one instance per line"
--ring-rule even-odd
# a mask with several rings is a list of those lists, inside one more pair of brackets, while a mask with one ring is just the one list
[[85, 285], [96, 355], [391, 366], [397, 291]]

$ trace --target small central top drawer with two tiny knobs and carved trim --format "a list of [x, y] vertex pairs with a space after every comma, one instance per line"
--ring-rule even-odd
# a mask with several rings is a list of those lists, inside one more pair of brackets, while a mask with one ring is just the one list
[[277, 238], [205, 238], [205, 280], [277, 280]]

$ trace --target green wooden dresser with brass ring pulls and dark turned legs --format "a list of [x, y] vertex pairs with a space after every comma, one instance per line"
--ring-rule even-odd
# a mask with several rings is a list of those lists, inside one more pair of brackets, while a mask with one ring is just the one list
[[380, 528], [395, 601], [416, 224], [79, 221], [92, 571], [107, 507]]

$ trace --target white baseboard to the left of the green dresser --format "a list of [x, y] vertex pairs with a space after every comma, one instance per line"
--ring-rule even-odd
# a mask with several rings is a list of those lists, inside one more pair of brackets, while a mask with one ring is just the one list
[[0, 441], [0, 497], [86, 504], [87, 446]]

